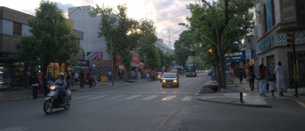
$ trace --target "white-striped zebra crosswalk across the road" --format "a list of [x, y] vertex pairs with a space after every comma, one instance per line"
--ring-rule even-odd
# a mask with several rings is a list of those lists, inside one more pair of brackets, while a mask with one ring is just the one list
[[[176, 95], [169, 95], [169, 96], [160, 96], [160, 95], [132, 95], [132, 96], [127, 96], [127, 95], [72, 95], [72, 100], [81, 100], [81, 99], [86, 99], [86, 100], [114, 100], [114, 99], [121, 99], [121, 100], [134, 100], [134, 99], [140, 99], [140, 100], [161, 100], [161, 101], [170, 101], [170, 100], [177, 100], [179, 99], [180, 101], [191, 101], [194, 96], [176, 96]], [[182, 99], [181, 99], [182, 98]]]

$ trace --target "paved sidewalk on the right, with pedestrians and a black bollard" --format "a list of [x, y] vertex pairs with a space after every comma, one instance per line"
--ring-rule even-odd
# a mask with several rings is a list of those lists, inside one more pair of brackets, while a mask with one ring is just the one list
[[[212, 83], [212, 82], [208, 82]], [[230, 85], [230, 84], [229, 84]], [[233, 85], [233, 84], [231, 84]], [[284, 93], [284, 97], [279, 96], [279, 91], [274, 92], [274, 97], [271, 96], [271, 91], [266, 92], [267, 97], [260, 96], [259, 90], [250, 91], [249, 82], [246, 79], [243, 79], [242, 83], [239, 83], [239, 79], [234, 79], [234, 85], [242, 87], [246, 91], [242, 93], [243, 102], [240, 103], [240, 94], [239, 93], [215, 93], [215, 94], [201, 94], [197, 99], [203, 101], [210, 101], [216, 103], [225, 103], [225, 104], [235, 104], [243, 106], [252, 106], [252, 107], [304, 107], [305, 108], [305, 96], [300, 96], [300, 94], [305, 94], [305, 88], [298, 88], [299, 97], [294, 96], [295, 89], [288, 89], [287, 93]]]

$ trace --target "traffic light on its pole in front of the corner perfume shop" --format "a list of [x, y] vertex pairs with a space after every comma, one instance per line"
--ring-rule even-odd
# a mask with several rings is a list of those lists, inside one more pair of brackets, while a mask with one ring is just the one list
[[296, 93], [296, 97], [299, 97], [298, 95], [298, 80], [296, 77], [296, 43], [295, 43], [295, 37], [294, 37], [294, 32], [292, 33], [287, 33], [288, 39], [287, 39], [287, 47], [292, 48], [292, 53], [293, 53], [293, 78], [294, 78], [294, 89]]

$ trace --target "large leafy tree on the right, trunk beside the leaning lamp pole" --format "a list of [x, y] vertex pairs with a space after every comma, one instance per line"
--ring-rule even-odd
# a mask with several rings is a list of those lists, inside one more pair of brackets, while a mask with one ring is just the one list
[[[253, 13], [249, 9], [255, 7], [258, 0], [219, 0], [212, 4], [205, 0], [202, 2], [203, 6], [198, 4], [187, 6], [192, 12], [192, 17], [187, 18], [191, 26], [203, 32], [207, 37], [213, 38], [214, 43], [223, 43], [218, 47], [219, 49], [223, 47], [224, 52], [235, 50], [233, 43], [240, 41], [254, 28]], [[212, 47], [217, 76], [220, 76], [218, 67], [220, 57], [217, 48], [204, 37], [194, 38], [197, 39], [195, 41], [205, 44], [201, 47]], [[205, 50], [207, 51], [207, 49]], [[222, 83], [219, 82], [219, 88], [222, 87]]]

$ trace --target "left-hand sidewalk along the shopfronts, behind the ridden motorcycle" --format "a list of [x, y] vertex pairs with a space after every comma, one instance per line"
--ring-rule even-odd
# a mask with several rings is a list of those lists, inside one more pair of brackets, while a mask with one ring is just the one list
[[[140, 80], [129, 80], [135, 82], [144, 82], [146, 79], [140, 79]], [[124, 81], [114, 81], [113, 86], [120, 86], [120, 85], [127, 85], [131, 84], [129, 82]], [[89, 88], [88, 85], [86, 85], [84, 88], [81, 88], [79, 85], [75, 87], [70, 87], [72, 92], [79, 92], [79, 91], [85, 91], [85, 90], [95, 90], [95, 89], [101, 89], [106, 87], [113, 87], [111, 81], [106, 82], [96, 82], [96, 86]], [[30, 100], [32, 96], [32, 89], [29, 88], [27, 90], [11, 90], [11, 91], [0, 91], [0, 102], [2, 101], [16, 101], [16, 100]], [[38, 95], [38, 98], [42, 98], [42, 95]]]

